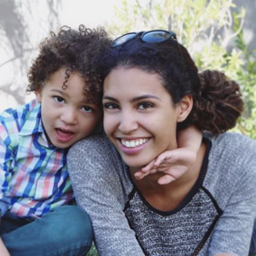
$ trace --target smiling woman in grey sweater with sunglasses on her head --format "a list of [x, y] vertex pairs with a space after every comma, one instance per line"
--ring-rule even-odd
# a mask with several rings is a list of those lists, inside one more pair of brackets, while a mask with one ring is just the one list
[[[161, 30], [117, 38], [105, 61], [104, 129], [112, 144], [91, 137], [68, 155], [100, 255], [247, 255], [256, 145], [224, 132], [242, 111], [239, 85], [217, 71], [199, 74], [175, 34]], [[209, 132], [187, 172], [164, 185], [163, 172], [136, 178], [176, 149], [177, 131], [191, 125]]]

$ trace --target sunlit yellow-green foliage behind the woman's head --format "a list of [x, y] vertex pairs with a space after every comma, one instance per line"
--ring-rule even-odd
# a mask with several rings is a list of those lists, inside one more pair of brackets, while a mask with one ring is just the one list
[[125, 32], [166, 29], [194, 57], [200, 70], [218, 69], [241, 84], [244, 113], [233, 131], [256, 139], [256, 54], [243, 39], [245, 9], [232, 0], [123, 0], [116, 8], [114, 37]]

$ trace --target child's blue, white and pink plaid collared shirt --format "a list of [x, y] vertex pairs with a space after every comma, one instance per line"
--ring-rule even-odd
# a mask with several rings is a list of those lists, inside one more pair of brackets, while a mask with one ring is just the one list
[[0, 115], [0, 211], [37, 218], [73, 200], [67, 149], [47, 143], [35, 100]]

